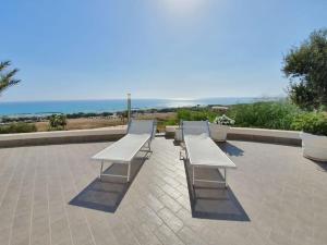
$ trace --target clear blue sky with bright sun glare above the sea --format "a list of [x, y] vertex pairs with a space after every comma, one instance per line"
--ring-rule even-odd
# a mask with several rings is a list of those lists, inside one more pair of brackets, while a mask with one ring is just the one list
[[1, 0], [1, 100], [279, 96], [326, 0]]

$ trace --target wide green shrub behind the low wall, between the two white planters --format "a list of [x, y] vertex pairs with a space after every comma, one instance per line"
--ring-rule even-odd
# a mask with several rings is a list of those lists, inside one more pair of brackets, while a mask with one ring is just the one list
[[227, 115], [235, 120], [235, 126], [291, 130], [300, 109], [286, 101], [255, 102], [231, 106]]

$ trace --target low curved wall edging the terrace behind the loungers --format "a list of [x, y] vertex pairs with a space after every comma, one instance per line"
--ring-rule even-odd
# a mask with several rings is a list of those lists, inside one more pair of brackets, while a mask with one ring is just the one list
[[[178, 126], [166, 126], [165, 136], [174, 137]], [[101, 127], [94, 130], [55, 131], [0, 135], [0, 147], [19, 147], [36, 145], [112, 142], [118, 140], [126, 133], [126, 126]], [[279, 131], [249, 127], [231, 127], [227, 139], [262, 142], [301, 146], [299, 131]]]

